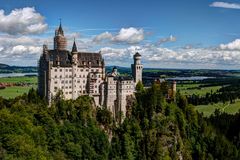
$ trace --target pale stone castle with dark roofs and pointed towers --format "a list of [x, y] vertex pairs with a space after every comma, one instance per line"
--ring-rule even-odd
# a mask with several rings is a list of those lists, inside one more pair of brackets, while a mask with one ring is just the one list
[[43, 45], [38, 67], [38, 92], [49, 104], [61, 91], [65, 99], [76, 99], [82, 95], [93, 97], [95, 105], [105, 106], [116, 118], [119, 113], [126, 116], [127, 98], [132, 96], [135, 86], [142, 81], [141, 55], [133, 56], [132, 76], [121, 76], [117, 68], [106, 73], [101, 53], [79, 52], [73, 43], [67, 49], [67, 39], [60, 23], [55, 31], [54, 48]]

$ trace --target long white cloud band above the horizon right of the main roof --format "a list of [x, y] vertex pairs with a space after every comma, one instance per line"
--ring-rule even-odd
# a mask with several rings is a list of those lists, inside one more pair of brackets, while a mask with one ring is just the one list
[[145, 67], [163, 68], [236, 68], [240, 67], [240, 51], [218, 48], [169, 48], [154, 45], [130, 46], [128, 48], [101, 49], [108, 65], [129, 66], [138, 51]]

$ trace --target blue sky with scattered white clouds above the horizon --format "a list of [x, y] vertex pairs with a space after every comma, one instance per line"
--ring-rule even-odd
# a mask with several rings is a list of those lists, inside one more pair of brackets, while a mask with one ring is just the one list
[[0, 10], [0, 63], [36, 65], [61, 18], [69, 48], [76, 37], [107, 65], [130, 66], [139, 51], [146, 67], [240, 68], [239, 0], [11, 0]]

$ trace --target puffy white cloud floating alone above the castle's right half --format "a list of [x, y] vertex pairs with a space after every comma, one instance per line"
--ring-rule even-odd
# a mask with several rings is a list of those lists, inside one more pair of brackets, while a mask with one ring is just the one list
[[112, 43], [127, 43], [136, 44], [144, 39], [144, 30], [134, 27], [122, 28], [117, 34], [109, 32], [101, 33], [93, 38], [93, 42], [112, 42]]

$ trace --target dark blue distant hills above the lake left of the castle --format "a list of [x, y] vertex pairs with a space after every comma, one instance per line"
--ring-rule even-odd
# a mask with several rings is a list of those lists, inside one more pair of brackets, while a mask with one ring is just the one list
[[0, 63], [0, 73], [34, 73], [37, 72], [37, 67], [34, 66], [9, 66]]

